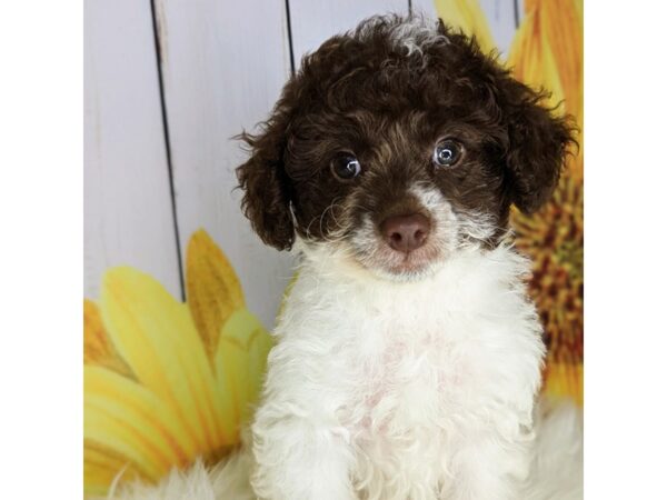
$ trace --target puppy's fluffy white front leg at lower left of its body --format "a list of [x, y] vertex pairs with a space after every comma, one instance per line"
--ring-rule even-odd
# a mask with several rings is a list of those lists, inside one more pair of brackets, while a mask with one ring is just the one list
[[[317, 404], [317, 399], [310, 402]], [[252, 426], [252, 488], [266, 500], [351, 500], [351, 452], [332, 414], [267, 401]]]

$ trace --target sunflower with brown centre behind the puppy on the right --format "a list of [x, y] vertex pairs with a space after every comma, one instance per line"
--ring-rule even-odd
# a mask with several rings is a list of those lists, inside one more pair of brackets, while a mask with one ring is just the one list
[[[495, 49], [477, 0], [436, 0], [440, 17], [480, 48]], [[526, 0], [506, 64], [514, 76], [550, 96], [547, 106], [584, 124], [583, 0]], [[545, 391], [583, 403], [584, 372], [584, 140], [571, 152], [552, 199], [536, 214], [512, 211], [516, 244], [534, 262], [530, 293], [548, 347]]]

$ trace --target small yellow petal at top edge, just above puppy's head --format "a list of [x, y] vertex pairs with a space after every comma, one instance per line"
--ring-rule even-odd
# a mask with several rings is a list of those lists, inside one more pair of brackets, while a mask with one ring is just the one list
[[490, 53], [496, 42], [487, 18], [477, 0], [436, 0], [438, 17], [447, 24], [474, 34], [482, 52]]

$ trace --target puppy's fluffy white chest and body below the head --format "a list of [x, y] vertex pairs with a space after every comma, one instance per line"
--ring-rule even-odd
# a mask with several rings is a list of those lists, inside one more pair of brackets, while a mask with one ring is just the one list
[[[526, 266], [506, 247], [476, 250], [392, 283], [307, 258], [253, 426], [260, 494], [510, 498], [544, 356]], [[281, 497], [273, 473], [311, 486], [288, 481]]]

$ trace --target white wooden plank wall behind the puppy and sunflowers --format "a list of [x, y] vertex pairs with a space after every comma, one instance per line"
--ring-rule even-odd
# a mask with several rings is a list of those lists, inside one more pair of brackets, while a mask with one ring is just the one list
[[[504, 51], [521, 3], [480, 0]], [[86, 297], [118, 264], [183, 297], [181, 262], [202, 227], [271, 327], [290, 259], [241, 216], [243, 153], [230, 138], [267, 118], [291, 61], [368, 16], [410, 8], [436, 12], [434, 0], [86, 0]]]

